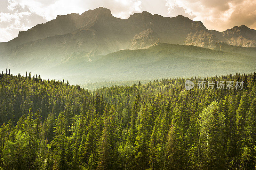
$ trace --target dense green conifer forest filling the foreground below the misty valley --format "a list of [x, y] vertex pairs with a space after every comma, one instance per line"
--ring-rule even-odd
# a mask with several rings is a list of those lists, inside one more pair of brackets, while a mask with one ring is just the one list
[[255, 169], [256, 73], [165, 78], [94, 91], [0, 74], [3, 169]]

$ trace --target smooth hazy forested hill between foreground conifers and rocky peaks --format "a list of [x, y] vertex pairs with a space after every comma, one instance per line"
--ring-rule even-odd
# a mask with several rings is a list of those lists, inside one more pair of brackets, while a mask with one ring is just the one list
[[[143, 79], [254, 72], [256, 57], [195, 46], [157, 44], [148, 49], [122, 50], [92, 62], [102, 77]], [[99, 73], [100, 74], [100, 73]]]

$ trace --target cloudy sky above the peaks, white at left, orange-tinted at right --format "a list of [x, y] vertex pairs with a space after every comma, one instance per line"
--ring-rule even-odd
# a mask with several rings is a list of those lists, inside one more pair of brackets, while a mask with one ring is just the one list
[[57, 15], [81, 14], [100, 6], [118, 18], [148, 11], [167, 17], [184, 15], [217, 31], [242, 24], [256, 29], [255, 0], [0, 0], [0, 42]]

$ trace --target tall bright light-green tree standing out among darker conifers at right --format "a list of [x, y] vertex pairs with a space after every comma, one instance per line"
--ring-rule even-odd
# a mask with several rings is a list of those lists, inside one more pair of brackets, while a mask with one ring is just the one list
[[218, 102], [213, 101], [198, 117], [200, 125], [198, 154], [202, 159], [200, 167], [202, 169], [223, 168], [224, 154], [220, 138], [223, 126], [220, 123], [218, 107]]

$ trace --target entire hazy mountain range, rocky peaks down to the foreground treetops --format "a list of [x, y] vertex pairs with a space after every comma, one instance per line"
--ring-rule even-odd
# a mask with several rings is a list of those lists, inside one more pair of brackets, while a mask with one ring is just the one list
[[[170, 44], [181, 46], [172, 46]], [[184, 47], [184, 45], [189, 48]], [[156, 47], [153, 48], [152, 46]], [[162, 52], [159, 52], [159, 47], [163, 50]], [[167, 48], [169, 51], [162, 47]], [[172, 50], [175, 51], [177, 47], [183, 50], [198, 51], [193, 53], [193, 56], [189, 55], [189, 51], [183, 51], [182, 54], [181, 51], [170, 52]], [[148, 49], [150, 53], [147, 50], [136, 51], [138, 49]], [[156, 51], [152, 51], [152, 49]], [[216, 55], [211, 55], [212, 58], [209, 58], [209, 54], [201, 57], [202, 54], [200, 52], [204, 53], [205, 50], [209, 54], [215, 54], [215, 51], [219, 52], [216, 52]], [[152, 78], [156, 75], [140, 74], [141, 71], [145, 72], [147, 70], [141, 69], [144, 68], [143, 64], [148, 62], [154, 65], [155, 63], [154, 67], [163, 66], [163, 64], [168, 65], [174, 54], [175, 61], [179, 60], [176, 63], [177, 68], [189, 63], [186, 57], [192, 57], [196, 58], [196, 60], [200, 58], [197, 63], [206, 62], [206, 60], [211, 60], [208, 62], [212, 63], [212, 60], [216, 60], [226, 65], [229, 63], [231, 64], [230, 66], [232, 66], [232, 62], [239, 61], [246, 67], [244, 71], [255, 71], [251, 66], [254, 67], [254, 63], [256, 63], [256, 30], [242, 25], [218, 32], [208, 30], [201, 21], [193, 21], [184, 16], [179, 15], [170, 18], [157, 14], [152, 15], [146, 11], [134, 13], [127, 19], [120, 19], [114, 17], [109, 9], [99, 7], [86, 11], [81, 15], [72, 13], [57, 16], [56, 19], [47, 23], [38, 24], [27, 31], [21, 31], [17, 38], [8, 42], [1, 42], [0, 51], [0, 59], [2, 61], [0, 70], [5, 70], [5, 68], [10, 68], [14, 72], [31, 70], [41, 75], [58, 79], [72, 78], [71, 73], [74, 73], [72, 70], [75, 69], [77, 76], [81, 76], [81, 81], [92, 80], [96, 77], [100, 79], [103, 74], [97, 75], [96, 72], [98, 70], [107, 70], [108, 74], [104, 73], [107, 77], [111, 77], [115, 71], [119, 71], [118, 75], [116, 75], [117, 78], [123, 78], [123, 76], [130, 78], [142, 77], [143, 79]], [[222, 57], [220, 51], [222, 51]], [[140, 54], [143, 56], [140, 60], [137, 60], [137, 52], [143, 53]], [[164, 61], [166, 58], [161, 58], [163, 54], [165, 57], [169, 57], [167, 57], [167, 63]], [[238, 58], [232, 61], [227, 60], [227, 55], [231, 54]], [[118, 57], [114, 57], [116, 55]], [[183, 58], [181, 60], [182, 57], [186, 59]], [[115, 60], [113, 60], [114, 58]], [[201, 59], [204, 61], [201, 61]], [[248, 59], [254, 61], [254, 63], [250, 63]], [[193, 62], [196, 62], [196, 60]], [[160, 64], [160, 61], [162, 61], [162, 64]], [[249, 61], [249, 65], [246, 63], [247, 61]], [[117, 67], [108, 67], [112, 66], [109, 64], [111, 62], [115, 63]], [[124, 64], [120, 65], [120, 63]], [[129, 68], [126, 67], [128, 65]], [[233, 63], [233, 65], [236, 64]], [[238, 67], [242, 69], [242, 65], [238, 64]], [[135, 73], [134, 70], [129, 70], [135, 67], [138, 67], [140, 71], [135, 71]], [[95, 70], [96, 68], [98, 70]], [[166, 67], [162, 69], [164, 68], [168, 69]], [[128, 71], [126, 71], [127, 69]], [[241, 69], [237, 70], [240, 71]], [[71, 72], [68, 73], [67, 71]], [[92, 73], [89, 74], [89, 71]], [[127, 75], [125, 75], [125, 71]], [[234, 69], [233, 71], [236, 70]], [[128, 74], [129, 72], [132, 72], [132, 74]], [[207, 71], [202, 70], [203, 72], [205, 74]], [[163, 74], [163, 76], [174, 76], [169, 70], [167, 73]], [[216, 75], [217, 72], [214, 72], [214, 74]], [[223, 72], [222, 74], [225, 73]], [[140, 76], [134, 77], [134, 75]], [[177, 74], [177, 76], [179, 75]], [[180, 76], [188, 76], [188, 74], [180, 74]], [[74, 80], [74, 82], [76, 81]]]

